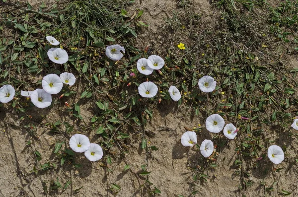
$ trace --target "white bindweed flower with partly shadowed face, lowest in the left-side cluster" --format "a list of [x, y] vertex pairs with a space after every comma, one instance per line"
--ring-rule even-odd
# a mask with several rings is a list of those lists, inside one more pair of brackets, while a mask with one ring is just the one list
[[38, 108], [49, 107], [52, 103], [52, 95], [43, 89], [36, 89], [30, 95], [32, 103]]

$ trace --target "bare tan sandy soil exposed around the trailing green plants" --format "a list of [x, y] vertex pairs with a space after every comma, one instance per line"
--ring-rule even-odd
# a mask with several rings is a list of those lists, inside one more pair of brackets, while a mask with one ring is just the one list
[[[36, 4], [39, 1], [30, 0]], [[212, 18], [214, 10], [208, 0], [193, 0], [193, 10], [202, 14], [205, 18]], [[48, 2], [47, 2], [48, 3]], [[157, 48], [163, 40], [161, 33], [166, 18], [173, 17], [173, 10], [178, 9], [173, 0], [143, 0], [142, 4], [137, 1], [131, 8], [133, 12], [137, 8], [145, 11], [142, 19], [149, 24], [148, 31], [142, 32], [138, 39], [137, 46], [143, 49], [145, 46]], [[187, 42], [187, 41], [186, 41]], [[175, 42], [173, 41], [173, 44]], [[289, 64], [298, 67], [297, 57], [290, 59]], [[9, 105], [9, 104], [8, 104]], [[140, 147], [139, 140], [131, 139], [128, 143], [129, 151], [125, 156], [112, 156], [112, 164], [105, 166], [105, 162], [89, 162], [82, 154], [76, 154], [76, 163], [81, 164], [80, 168], [72, 168], [65, 164], [62, 168], [54, 168], [46, 172], [32, 173], [36, 165], [36, 156], [32, 147], [42, 155], [40, 163], [55, 161], [53, 149], [58, 141], [64, 141], [61, 134], [51, 134], [50, 128], [43, 126], [46, 122], [55, 123], [60, 120], [60, 106], [55, 105], [52, 109], [38, 110], [30, 112], [31, 121], [39, 126], [36, 128], [36, 138], [31, 145], [26, 145], [29, 140], [28, 129], [24, 126], [29, 122], [20, 121], [16, 111], [11, 111], [10, 106], [4, 105], [0, 108], [0, 128], [1, 128], [1, 152], [0, 152], [0, 197], [143, 197], [149, 196], [146, 189], [141, 187], [145, 179], [138, 178], [135, 173], [140, 172], [141, 166], [148, 165], [150, 171], [149, 181], [161, 191], [160, 197], [176, 197], [177, 195], [196, 197], [267, 197], [265, 187], [272, 186], [274, 190], [269, 192], [270, 196], [281, 196], [279, 191], [292, 191], [293, 197], [298, 195], [298, 169], [297, 163], [292, 162], [297, 158], [297, 139], [288, 136], [288, 132], [280, 134], [278, 127], [267, 128], [271, 140], [276, 140], [287, 147], [288, 155], [286, 160], [280, 164], [279, 168], [284, 168], [281, 172], [272, 171], [273, 165], [268, 158], [261, 161], [243, 161], [243, 168], [250, 174], [249, 180], [253, 183], [246, 190], [238, 190], [241, 182], [239, 170], [234, 165], [238, 158], [234, 151], [237, 147], [237, 139], [225, 142], [217, 149], [218, 156], [215, 169], [204, 172], [208, 175], [207, 182], [194, 182], [194, 170], [199, 166], [206, 165], [206, 159], [195, 148], [183, 147], [180, 137], [185, 132], [184, 127], [193, 128], [202, 125], [202, 131], [198, 135], [198, 144], [204, 139], [212, 139], [212, 133], [205, 129], [205, 120], [201, 116], [193, 115], [192, 110], [188, 110], [184, 105], [179, 108], [168, 110], [169, 105], [176, 105], [173, 101], [162, 103], [153, 112], [153, 118], [145, 128], [148, 134], [149, 145], [159, 149], [146, 153]], [[88, 110], [92, 108], [89, 103], [81, 105], [81, 114], [86, 120], [93, 115]], [[188, 114], [187, 114], [188, 112]], [[46, 115], [44, 120], [41, 115]], [[186, 114], [186, 115], [185, 115]], [[78, 127], [74, 132], [78, 131]], [[99, 142], [95, 131], [78, 131], [91, 138], [91, 142]], [[277, 137], [279, 136], [279, 137]], [[116, 154], [119, 153], [116, 150]], [[290, 162], [291, 161], [291, 162]], [[131, 165], [131, 170], [123, 171], [126, 164]], [[207, 163], [208, 165], [208, 163]], [[247, 175], [243, 175], [247, 176]], [[53, 181], [59, 177], [63, 185], [71, 180], [72, 184], [65, 191], [53, 191], [45, 194], [44, 188], [50, 187]], [[263, 185], [261, 183], [264, 183]], [[108, 190], [111, 184], [121, 187], [118, 194], [112, 194]], [[79, 189], [77, 193], [72, 191]], [[151, 188], [151, 189], [154, 189]], [[190, 193], [197, 191], [197, 194]]]

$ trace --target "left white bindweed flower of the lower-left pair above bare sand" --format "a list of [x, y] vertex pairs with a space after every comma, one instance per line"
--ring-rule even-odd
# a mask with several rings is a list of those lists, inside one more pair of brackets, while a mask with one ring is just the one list
[[86, 135], [74, 134], [70, 139], [70, 147], [74, 152], [85, 152], [89, 146], [90, 141]]

